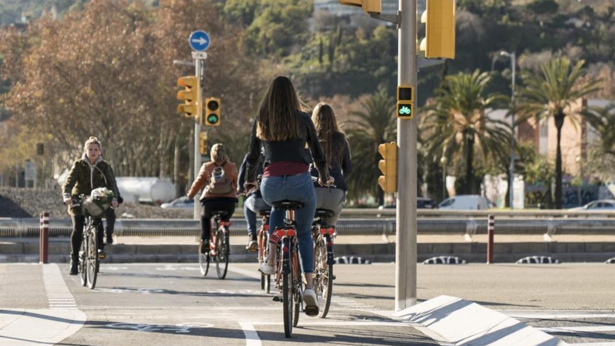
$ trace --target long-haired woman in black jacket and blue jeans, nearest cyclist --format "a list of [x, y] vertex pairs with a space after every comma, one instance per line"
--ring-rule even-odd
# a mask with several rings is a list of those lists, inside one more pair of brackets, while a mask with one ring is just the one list
[[[265, 162], [260, 190], [264, 201], [269, 205], [284, 199], [303, 202], [303, 207], [295, 211], [301, 268], [306, 280], [303, 302], [306, 311], [318, 311], [316, 294], [312, 289], [314, 246], [311, 233], [316, 196], [312, 177], [308, 172], [312, 159], [304, 150], [306, 143], [319, 172], [320, 183], [330, 185], [333, 178], [329, 177], [327, 159], [318, 141], [314, 124], [309, 115], [301, 111], [295, 87], [290, 79], [278, 76], [271, 82], [252, 125], [245, 185], [248, 191], [257, 187], [256, 169], [262, 145]], [[284, 216], [284, 211], [271, 211], [270, 236], [276, 227], [284, 227]], [[270, 242], [269, 257], [261, 265], [261, 271], [266, 275], [276, 272], [276, 252], [277, 243]]]

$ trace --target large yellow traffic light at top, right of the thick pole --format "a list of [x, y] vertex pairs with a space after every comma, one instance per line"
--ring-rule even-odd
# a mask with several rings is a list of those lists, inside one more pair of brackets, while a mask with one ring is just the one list
[[421, 15], [425, 23], [425, 38], [419, 48], [426, 58], [455, 58], [455, 1], [427, 0]]

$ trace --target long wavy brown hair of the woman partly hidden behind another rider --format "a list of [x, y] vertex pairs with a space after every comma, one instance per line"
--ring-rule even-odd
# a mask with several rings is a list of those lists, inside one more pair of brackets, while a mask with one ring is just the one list
[[317, 104], [312, 111], [312, 122], [316, 128], [320, 145], [322, 145], [322, 149], [327, 156], [327, 165], [331, 167], [334, 164], [331, 162], [333, 153], [338, 156], [339, 162], [337, 164], [341, 164], [345, 135], [339, 131], [333, 107], [325, 102]]

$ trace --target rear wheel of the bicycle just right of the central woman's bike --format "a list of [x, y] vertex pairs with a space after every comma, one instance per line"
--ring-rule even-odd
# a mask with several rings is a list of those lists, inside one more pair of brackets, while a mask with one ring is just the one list
[[327, 264], [327, 244], [322, 237], [314, 244], [314, 290], [319, 300], [319, 318], [327, 317], [333, 295], [333, 266]]

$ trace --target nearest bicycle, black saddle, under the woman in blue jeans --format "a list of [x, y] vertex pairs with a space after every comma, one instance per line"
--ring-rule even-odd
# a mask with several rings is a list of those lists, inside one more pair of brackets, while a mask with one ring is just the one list
[[[299, 267], [299, 244], [296, 235], [295, 210], [303, 207], [300, 201], [277, 201], [272, 204], [276, 210], [286, 212], [284, 227], [276, 227], [274, 233], [282, 246], [277, 246], [276, 287], [282, 289], [284, 305], [284, 336], [291, 337], [293, 327], [299, 323], [301, 311], [308, 315], [317, 315], [316, 310], [303, 307], [303, 280]], [[268, 247], [269, 248], [269, 247]], [[279, 297], [274, 300], [280, 301]], [[294, 310], [294, 311], [293, 311]]]

